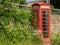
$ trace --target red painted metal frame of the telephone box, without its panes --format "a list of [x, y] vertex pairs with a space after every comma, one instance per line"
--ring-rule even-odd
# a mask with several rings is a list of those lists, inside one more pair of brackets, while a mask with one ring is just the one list
[[[33, 10], [36, 10], [36, 9], [34, 9], [33, 8], [33, 6], [35, 5], [35, 4], [38, 4], [39, 6], [40, 6], [40, 8], [38, 9], [38, 17], [37, 17], [37, 19], [38, 19], [38, 23], [37, 23], [37, 25], [38, 25], [38, 30], [40, 30], [41, 32], [43, 32], [43, 28], [42, 28], [42, 12], [43, 11], [48, 11], [49, 12], [49, 14], [48, 14], [48, 37], [47, 38], [43, 38], [43, 43], [50, 43], [50, 8], [41, 8], [41, 6], [48, 6], [48, 7], [50, 7], [50, 5], [48, 4], [48, 3], [46, 3], [46, 2], [36, 2], [36, 3], [34, 3], [33, 5], [32, 5], [32, 13], [33, 13]], [[34, 16], [34, 15], [33, 15]], [[33, 21], [34, 19], [32, 18], [32, 21]], [[34, 22], [32, 22], [32, 26], [34, 27]], [[41, 34], [41, 36], [43, 37], [43, 33]]]

